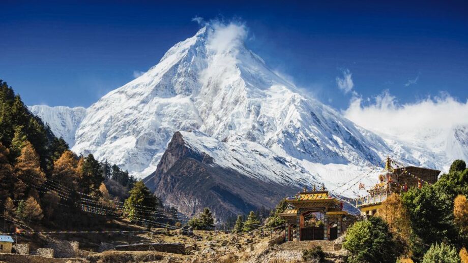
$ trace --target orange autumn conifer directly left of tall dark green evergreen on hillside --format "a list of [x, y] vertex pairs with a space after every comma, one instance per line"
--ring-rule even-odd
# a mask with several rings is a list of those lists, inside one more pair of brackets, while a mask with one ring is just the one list
[[79, 181], [77, 156], [70, 150], [65, 151], [60, 158], [54, 161], [52, 179], [71, 188], [78, 188]]

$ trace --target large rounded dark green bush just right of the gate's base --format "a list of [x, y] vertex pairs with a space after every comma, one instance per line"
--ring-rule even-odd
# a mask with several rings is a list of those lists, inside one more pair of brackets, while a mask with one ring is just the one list
[[351, 252], [348, 259], [351, 263], [396, 261], [393, 236], [380, 217], [370, 217], [349, 227], [343, 247]]

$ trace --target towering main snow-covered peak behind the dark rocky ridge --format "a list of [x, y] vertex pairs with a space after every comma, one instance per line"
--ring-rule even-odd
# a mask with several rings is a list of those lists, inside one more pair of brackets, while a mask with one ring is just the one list
[[230, 27], [236, 25], [203, 27], [147, 73], [103, 96], [87, 109], [73, 150], [142, 175], [156, 169], [174, 132], [189, 129], [219, 140], [240, 136], [323, 164], [375, 164], [389, 151], [276, 75]]

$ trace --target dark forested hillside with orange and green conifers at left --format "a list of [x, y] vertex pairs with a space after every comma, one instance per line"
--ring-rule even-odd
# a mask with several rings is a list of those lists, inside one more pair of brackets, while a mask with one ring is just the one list
[[[11, 222], [61, 229], [97, 227], [109, 216], [148, 220], [149, 212], [164, 210], [127, 171], [99, 162], [92, 154], [77, 156], [70, 151], [2, 80], [0, 205]], [[142, 211], [135, 206], [149, 207]], [[139, 214], [143, 212], [145, 216]], [[161, 221], [167, 220], [155, 219]]]

